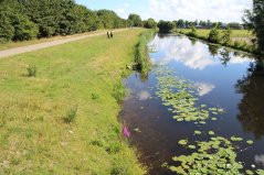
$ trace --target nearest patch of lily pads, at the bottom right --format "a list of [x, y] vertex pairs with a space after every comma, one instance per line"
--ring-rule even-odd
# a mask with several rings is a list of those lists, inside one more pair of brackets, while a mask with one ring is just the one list
[[232, 142], [241, 142], [240, 138], [232, 136], [231, 139], [225, 139], [215, 135], [213, 131], [209, 131], [209, 135], [211, 135], [209, 141], [197, 141], [196, 144], [188, 144], [188, 140], [179, 141], [181, 146], [186, 146], [194, 152], [191, 155], [175, 156], [172, 160], [178, 166], [170, 166], [170, 171], [182, 175], [263, 175], [263, 169], [244, 169], [244, 165], [236, 161], [236, 147]]

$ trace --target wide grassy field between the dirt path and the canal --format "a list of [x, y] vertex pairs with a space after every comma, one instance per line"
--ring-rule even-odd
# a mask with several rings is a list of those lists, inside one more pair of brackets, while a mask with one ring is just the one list
[[116, 100], [141, 32], [0, 59], [0, 174], [145, 173], [122, 142]]

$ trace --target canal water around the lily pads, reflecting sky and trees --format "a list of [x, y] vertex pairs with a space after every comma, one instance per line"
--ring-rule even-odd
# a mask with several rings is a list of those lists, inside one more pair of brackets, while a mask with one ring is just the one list
[[[147, 75], [135, 72], [124, 80], [128, 95], [120, 120], [131, 135], [130, 144], [137, 149], [140, 162], [150, 175], [175, 174], [168, 166], [176, 155], [192, 151], [180, 146], [182, 139], [196, 141], [196, 130], [214, 131], [218, 135], [241, 136], [252, 145], [237, 149], [237, 161], [245, 168], [264, 168], [264, 72], [260, 58], [182, 35], [156, 35], [149, 43], [152, 70]], [[157, 92], [157, 67], [172, 69], [193, 83], [200, 90], [199, 103], [222, 108], [225, 113], [217, 121], [198, 125], [178, 122], [170, 107], [162, 105]], [[207, 139], [208, 135], [200, 135]], [[242, 149], [243, 147], [243, 149]], [[167, 165], [167, 166], [162, 166]]]

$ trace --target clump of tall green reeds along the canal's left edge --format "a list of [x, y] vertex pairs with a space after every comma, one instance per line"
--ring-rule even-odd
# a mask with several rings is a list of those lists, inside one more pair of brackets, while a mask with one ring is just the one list
[[141, 33], [139, 36], [139, 42], [136, 46], [136, 63], [138, 63], [139, 69], [142, 73], [147, 73], [150, 66], [147, 44], [149, 40], [154, 37], [155, 33], [155, 30], [148, 30]]

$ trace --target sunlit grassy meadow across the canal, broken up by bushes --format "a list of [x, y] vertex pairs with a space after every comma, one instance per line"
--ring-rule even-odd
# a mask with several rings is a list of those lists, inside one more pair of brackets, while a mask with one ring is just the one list
[[[177, 33], [181, 33], [188, 36], [192, 36], [190, 34], [191, 30], [190, 29], [180, 29], [176, 31]], [[222, 37], [222, 32], [223, 30], [219, 30], [220, 32], [220, 37]], [[209, 41], [209, 33], [210, 30], [197, 30], [197, 35], [194, 37]], [[260, 54], [260, 52], [256, 50], [256, 46], [252, 43], [252, 39], [254, 39], [252, 32], [247, 30], [232, 30], [231, 33], [231, 42], [229, 44], [224, 44], [222, 42], [217, 42], [215, 44], [221, 44], [223, 46], [232, 47], [235, 50], [253, 53], [253, 54]]]

